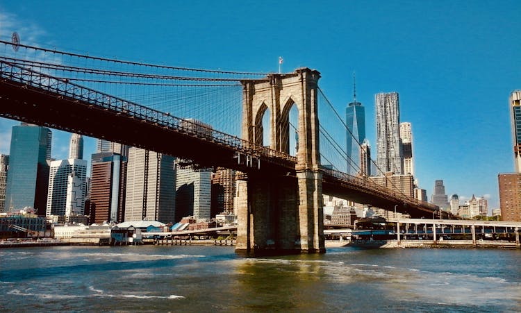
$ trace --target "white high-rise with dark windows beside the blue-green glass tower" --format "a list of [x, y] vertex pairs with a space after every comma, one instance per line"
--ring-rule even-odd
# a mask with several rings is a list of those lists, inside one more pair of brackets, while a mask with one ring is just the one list
[[[73, 173], [74, 176], [71, 178], [70, 176]], [[83, 214], [86, 177], [86, 160], [68, 159], [51, 161], [46, 216]], [[69, 185], [69, 179], [74, 180], [71, 182], [72, 185]], [[74, 183], [76, 183], [76, 186]], [[80, 192], [78, 192], [77, 184], [80, 184]], [[68, 188], [72, 189], [68, 190]], [[74, 198], [69, 198], [70, 202], [67, 202], [67, 194], [73, 191], [75, 194]], [[69, 212], [68, 215], [66, 214], [67, 211]]]

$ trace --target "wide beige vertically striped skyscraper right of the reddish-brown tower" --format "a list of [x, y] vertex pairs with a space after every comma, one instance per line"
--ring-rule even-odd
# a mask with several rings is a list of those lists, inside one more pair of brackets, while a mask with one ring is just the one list
[[129, 149], [125, 221], [147, 219], [174, 223], [175, 188], [176, 172], [172, 156], [135, 147]]

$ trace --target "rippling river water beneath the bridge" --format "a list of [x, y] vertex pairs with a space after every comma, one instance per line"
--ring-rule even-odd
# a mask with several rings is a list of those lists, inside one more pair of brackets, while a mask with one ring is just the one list
[[521, 250], [0, 250], [0, 312], [521, 312]]

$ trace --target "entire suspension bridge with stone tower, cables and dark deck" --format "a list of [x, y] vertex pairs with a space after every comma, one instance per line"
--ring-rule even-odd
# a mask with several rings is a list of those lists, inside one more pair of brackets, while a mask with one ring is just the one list
[[238, 252], [324, 252], [322, 194], [452, 218], [347, 174], [340, 142], [349, 129], [320, 89], [319, 71], [192, 69], [0, 44], [1, 117], [240, 172]]

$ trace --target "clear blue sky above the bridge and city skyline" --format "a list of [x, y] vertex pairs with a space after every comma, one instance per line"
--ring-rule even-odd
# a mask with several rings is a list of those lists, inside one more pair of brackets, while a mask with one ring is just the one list
[[[497, 174], [513, 171], [508, 95], [521, 89], [519, 1], [0, 1], [0, 37], [24, 44], [211, 69], [310, 67], [341, 114], [366, 108], [376, 147], [374, 94], [399, 92], [413, 127], [415, 171], [433, 193], [486, 195], [497, 208]], [[0, 119], [0, 153], [10, 127]], [[69, 135], [53, 131], [53, 158]], [[94, 150], [86, 142], [85, 156]]]

